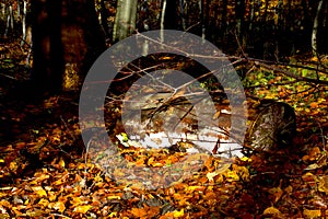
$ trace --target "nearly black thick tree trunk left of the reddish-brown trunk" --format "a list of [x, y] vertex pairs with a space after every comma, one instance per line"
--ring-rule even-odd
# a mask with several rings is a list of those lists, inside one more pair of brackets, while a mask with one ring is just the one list
[[63, 48], [61, 44], [61, 1], [32, 1], [33, 76], [36, 89], [61, 87]]

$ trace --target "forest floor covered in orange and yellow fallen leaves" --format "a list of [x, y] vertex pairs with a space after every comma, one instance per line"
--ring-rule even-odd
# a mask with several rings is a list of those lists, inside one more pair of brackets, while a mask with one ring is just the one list
[[[274, 155], [236, 158], [232, 164], [210, 157], [197, 174], [144, 189], [128, 176], [117, 183], [85, 158], [79, 94], [25, 99], [19, 88], [28, 79], [26, 54], [15, 44], [0, 48], [0, 218], [328, 218], [325, 85], [307, 88], [300, 82], [270, 90], [248, 84], [247, 95], [279, 97], [294, 107], [294, 146]], [[315, 60], [293, 61], [309, 65]], [[283, 76], [262, 70], [247, 77], [260, 81], [268, 72], [268, 82], [282, 80]], [[259, 74], [262, 78], [256, 78]], [[248, 105], [255, 102], [247, 101]], [[136, 148], [120, 148], [120, 153], [131, 166], [160, 169], [185, 158], [183, 152], [173, 155]], [[165, 181], [163, 175], [152, 176]]]

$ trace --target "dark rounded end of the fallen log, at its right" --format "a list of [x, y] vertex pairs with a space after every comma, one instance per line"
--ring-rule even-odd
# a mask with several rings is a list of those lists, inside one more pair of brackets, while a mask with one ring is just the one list
[[296, 132], [295, 112], [286, 103], [262, 101], [248, 131], [248, 147], [259, 152], [274, 152], [291, 147]]

